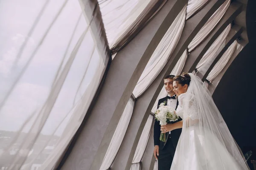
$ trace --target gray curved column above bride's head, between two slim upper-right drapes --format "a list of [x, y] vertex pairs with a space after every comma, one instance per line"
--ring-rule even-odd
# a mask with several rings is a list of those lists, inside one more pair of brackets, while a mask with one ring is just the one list
[[231, 3], [224, 16], [219, 23], [215, 26], [207, 38], [197, 47], [194, 51], [190, 52], [189, 57], [184, 65], [182, 72], [192, 72], [198, 62], [202, 59], [206, 51], [212, 45], [212, 43], [218, 38], [218, 36], [224, 31], [224, 29], [232, 23], [232, 21], [241, 13], [241, 3]]

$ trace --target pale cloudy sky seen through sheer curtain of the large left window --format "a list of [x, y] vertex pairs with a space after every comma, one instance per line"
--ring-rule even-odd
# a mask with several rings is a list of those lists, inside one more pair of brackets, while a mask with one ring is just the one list
[[[34, 117], [23, 130], [28, 131], [47, 100], [53, 79], [64, 57], [76, 23], [79, 22], [64, 63], [67, 62], [76, 42], [87, 27], [87, 21], [82, 14], [79, 1], [68, 0], [67, 5], [39, 46], [26, 71], [20, 76], [22, 69], [29, 58], [33, 56], [33, 51], [38, 47], [64, 0], [49, 1], [34, 31], [28, 37], [29, 30], [45, 2], [46, 0], [0, 1], [0, 104], [3, 104], [3, 107], [0, 108], [0, 130], [17, 131], [26, 119], [33, 114]], [[79, 18], [80, 15], [81, 17]], [[20, 59], [16, 62], [18, 51], [26, 38], [28, 38], [26, 46]], [[49, 113], [49, 118], [44, 125], [42, 133], [51, 134], [57, 128], [61, 120], [74, 107], [74, 101], [75, 103], [78, 102], [82, 94], [84, 94], [93, 76], [97, 71], [102, 70], [102, 68], [99, 68], [103, 62], [102, 57], [93, 47], [93, 37], [88, 32], [79, 48], [55, 105]], [[90, 59], [91, 54], [93, 55]], [[76, 96], [77, 88], [83, 76], [84, 80]], [[18, 79], [18, 77], [20, 78]], [[6, 96], [16, 80], [18, 81], [12, 93], [3, 101], [4, 96]], [[65, 118], [65, 121], [56, 132], [57, 135], [63, 133], [72, 114], [70, 112], [69, 116]]]

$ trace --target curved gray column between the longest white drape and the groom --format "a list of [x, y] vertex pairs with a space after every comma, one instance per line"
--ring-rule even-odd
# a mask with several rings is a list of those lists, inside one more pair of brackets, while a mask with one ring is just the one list
[[163, 77], [171, 73], [189, 43], [223, 2], [224, 0], [209, 1], [201, 11], [186, 21], [180, 41], [169, 61], [166, 63], [166, 66], [144, 94], [137, 99], [129, 127], [125, 133], [116, 159], [111, 166], [111, 170], [130, 170], [131, 162], [148, 114], [150, 114], [154, 102], [163, 87]]

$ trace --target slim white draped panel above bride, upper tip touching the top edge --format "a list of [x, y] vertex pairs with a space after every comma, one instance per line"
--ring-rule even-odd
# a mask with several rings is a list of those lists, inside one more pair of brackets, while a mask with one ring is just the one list
[[230, 6], [230, 0], [226, 0], [217, 11], [209, 18], [207, 23], [200, 29], [198, 34], [194, 37], [194, 39], [189, 43], [189, 52], [193, 51], [204, 39], [207, 35], [212, 31], [212, 29], [218, 24], [221, 20], [227, 8]]

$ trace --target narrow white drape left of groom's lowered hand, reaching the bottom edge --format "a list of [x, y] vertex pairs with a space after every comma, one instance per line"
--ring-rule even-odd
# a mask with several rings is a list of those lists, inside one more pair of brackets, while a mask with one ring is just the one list
[[152, 125], [153, 125], [153, 121], [154, 120], [154, 116], [152, 114], [150, 114], [148, 116], [148, 120], [143, 128], [143, 131], [141, 133], [140, 136], [140, 140], [138, 142], [137, 148], [135, 150], [134, 153], [134, 158], [132, 161], [132, 165], [131, 165], [131, 169], [130, 170], [140, 170], [140, 161], [143, 157], [143, 154], [145, 152], [145, 149], [147, 147], [148, 144], [148, 139], [150, 136], [150, 132], [152, 129]]

